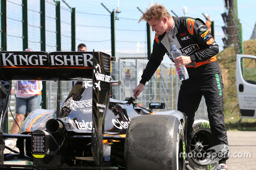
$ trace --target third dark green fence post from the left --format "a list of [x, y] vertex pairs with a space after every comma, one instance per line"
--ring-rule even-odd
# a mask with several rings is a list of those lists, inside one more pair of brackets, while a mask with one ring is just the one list
[[[41, 51], [46, 51], [45, 42], [45, 0], [40, 0]], [[42, 109], [46, 109], [46, 81], [42, 81]]]

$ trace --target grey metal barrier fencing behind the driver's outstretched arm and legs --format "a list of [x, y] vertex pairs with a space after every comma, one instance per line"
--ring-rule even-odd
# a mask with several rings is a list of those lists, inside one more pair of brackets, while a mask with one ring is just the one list
[[[133, 89], [139, 84], [140, 76], [146, 67], [147, 60], [123, 60], [112, 62], [111, 77], [113, 80], [121, 80], [120, 86], [113, 86], [113, 98], [128, 100], [133, 96]], [[153, 77], [144, 86], [144, 90], [138, 96], [138, 104], [148, 107], [149, 103], [165, 103], [165, 109], [160, 111], [177, 109], [178, 91], [181, 81], [176, 73], [173, 63], [162, 62]], [[201, 100], [196, 112], [198, 115], [206, 115], [207, 109], [204, 98]]]

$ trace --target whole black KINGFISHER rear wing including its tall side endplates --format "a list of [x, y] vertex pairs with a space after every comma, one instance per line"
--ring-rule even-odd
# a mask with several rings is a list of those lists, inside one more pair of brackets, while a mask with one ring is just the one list
[[[10, 101], [11, 80], [92, 80], [93, 129], [91, 150], [96, 165], [101, 165], [103, 157], [103, 121], [110, 97], [111, 60], [115, 61], [115, 57], [94, 51], [51, 53], [44, 51], [1, 51], [0, 147], [4, 147], [3, 124]], [[60, 114], [60, 105], [57, 106], [57, 118], [58, 114]]]

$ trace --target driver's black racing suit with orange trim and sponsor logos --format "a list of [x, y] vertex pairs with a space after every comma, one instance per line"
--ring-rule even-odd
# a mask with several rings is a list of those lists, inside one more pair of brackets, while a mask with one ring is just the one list
[[[184, 56], [190, 56], [192, 63], [186, 65], [189, 78], [183, 80], [178, 96], [178, 110], [188, 117], [187, 147], [190, 151], [195, 112], [198, 109], [202, 95], [207, 106], [208, 118], [213, 136], [212, 145], [228, 145], [227, 131], [223, 115], [223, 82], [216, 54], [219, 46], [214, 41], [208, 27], [199, 18], [173, 17], [172, 36], [170, 31], [162, 35], [156, 33], [153, 51], [141, 76], [140, 83], [150, 80], [158, 66], [167, 54], [171, 55], [172, 45], [176, 45]], [[228, 155], [224, 155], [228, 159]]]

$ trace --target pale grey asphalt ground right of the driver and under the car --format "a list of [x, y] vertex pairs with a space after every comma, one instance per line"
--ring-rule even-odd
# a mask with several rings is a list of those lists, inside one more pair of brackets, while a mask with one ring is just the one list
[[[255, 170], [256, 131], [228, 131], [227, 134], [230, 147], [230, 158], [227, 160], [228, 170]], [[14, 145], [10, 147], [13, 148]], [[5, 150], [4, 153], [9, 152]], [[25, 165], [25, 162], [4, 162], [4, 164]]]

